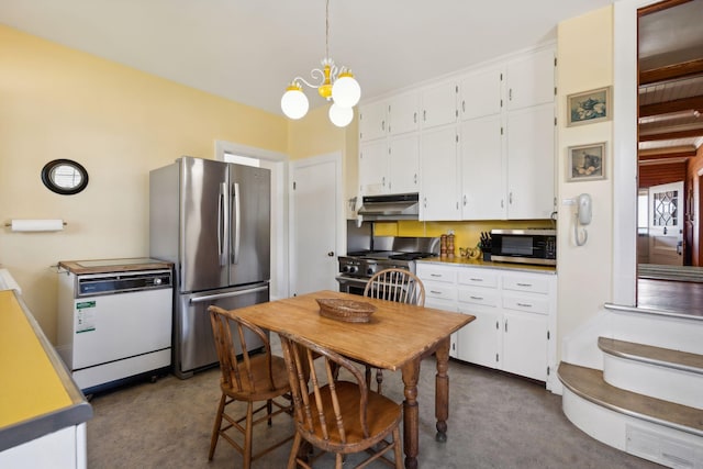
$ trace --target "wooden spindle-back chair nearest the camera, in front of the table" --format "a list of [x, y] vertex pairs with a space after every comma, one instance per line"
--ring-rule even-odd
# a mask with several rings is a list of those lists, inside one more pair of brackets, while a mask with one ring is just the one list
[[[295, 407], [295, 439], [288, 469], [311, 469], [325, 453], [336, 455], [335, 467], [341, 469], [345, 455], [361, 451], [371, 456], [357, 468], [378, 459], [401, 469], [401, 405], [370, 391], [361, 371], [348, 358], [305, 338], [279, 335]], [[353, 381], [338, 380], [336, 370], [348, 371]], [[308, 461], [300, 456], [306, 454], [300, 450], [303, 440], [322, 453]], [[391, 449], [394, 462], [386, 456]]]

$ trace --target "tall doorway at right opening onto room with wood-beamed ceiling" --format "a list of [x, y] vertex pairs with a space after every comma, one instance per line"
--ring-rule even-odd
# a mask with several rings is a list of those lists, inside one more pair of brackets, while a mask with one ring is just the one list
[[703, 0], [665, 0], [638, 10], [640, 308], [687, 312], [695, 304], [692, 299], [703, 295], [695, 216], [701, 200], [696, 170], [703, 167], [700, 18]]

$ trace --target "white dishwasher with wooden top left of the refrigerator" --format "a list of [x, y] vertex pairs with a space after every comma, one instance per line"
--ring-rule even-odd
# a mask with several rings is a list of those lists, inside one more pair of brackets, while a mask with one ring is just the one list
[[56, 350], [83, 393], [169, 370], [170, 263], [62, 260], [58, 267]]

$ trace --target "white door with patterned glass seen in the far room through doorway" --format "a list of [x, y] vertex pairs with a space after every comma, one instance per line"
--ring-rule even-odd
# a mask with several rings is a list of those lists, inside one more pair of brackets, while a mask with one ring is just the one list
[[649, 264], [683, 265], [683, 181], [649, 188]]

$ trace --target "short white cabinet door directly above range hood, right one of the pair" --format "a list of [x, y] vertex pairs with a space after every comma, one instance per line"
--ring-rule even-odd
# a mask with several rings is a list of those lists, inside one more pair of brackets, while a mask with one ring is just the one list
[[389, 175], [390, 193], [420, 191], [420, 137], [416, 133], [390, 138]]

